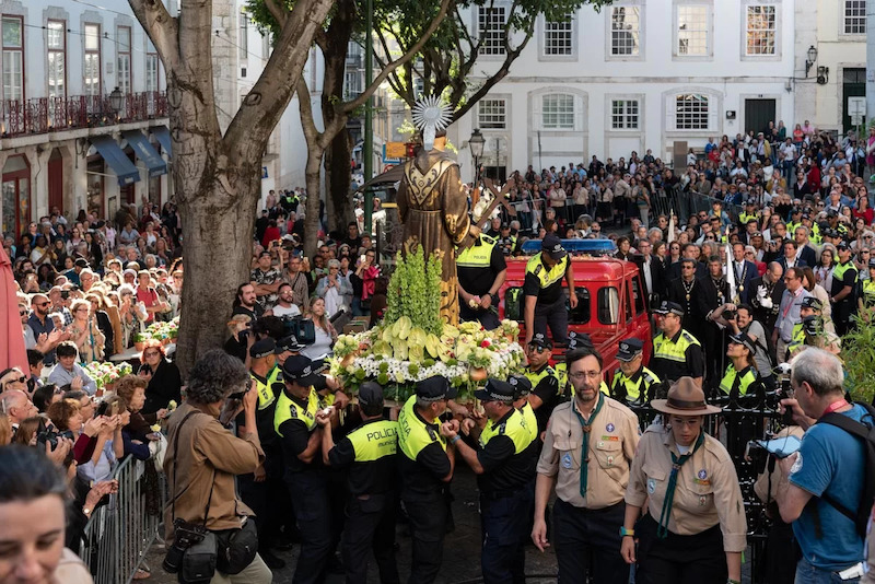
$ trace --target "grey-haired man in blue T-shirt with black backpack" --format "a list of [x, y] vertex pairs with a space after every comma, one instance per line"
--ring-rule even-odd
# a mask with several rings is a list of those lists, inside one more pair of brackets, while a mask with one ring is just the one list
[[868, 432], [875, 419], [870, 408], [845, 400], [837, 357], [809, 348], [791, 364], [794, 398], [781, 400], [781, 406], [792, 411], [805, 435], [798, 452], [779, 462], [790, 480], [777, 500], [802, 549], [796, 582], [859, 582], [862, 571], [841, 572], [863, 560], [860, 519], [870, 515], [872, 501], [863, 500], [866, 444], [844, 425], [852, 422]]

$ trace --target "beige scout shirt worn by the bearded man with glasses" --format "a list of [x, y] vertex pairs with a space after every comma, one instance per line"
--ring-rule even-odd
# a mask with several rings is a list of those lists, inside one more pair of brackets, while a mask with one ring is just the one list
[[603, 405], [590, 419], [586, 497], [581, 495], [584, 432], [576, 400], [553, 410], [538, 460], [538, 475], [556, 477], [556, 495], [575, 507], [604, 509], [622, 501], [638, 447], [638, 418], [632, 410], [602, 394], [597, 398]]

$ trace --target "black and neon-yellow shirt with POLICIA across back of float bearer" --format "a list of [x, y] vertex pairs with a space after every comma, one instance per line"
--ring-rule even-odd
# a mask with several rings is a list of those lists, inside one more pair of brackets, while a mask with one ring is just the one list
[[328, 452], [335, 468], [349, 467], [353, 497], [392, 491], [396, 484], [398, 422], [376, 418], [362, 423]]

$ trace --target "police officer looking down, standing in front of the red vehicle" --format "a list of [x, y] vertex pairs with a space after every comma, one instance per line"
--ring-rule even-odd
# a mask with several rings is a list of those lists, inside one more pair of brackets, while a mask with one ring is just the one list
[[578, 306], [578, 294], [574, 292], [574, 270], [571, 267], [571, 259], [562, 247], [562, 241], [555, 234], [548, 233], [544, 236], [540, 252], [526, 264], [526, 277], [523, 282], [526, 343], [537, 332], [546, 336], [547, 326], [550, 327], [556, 342], [565, 342], [568, 309], [562, 278], [568, 283], [569, 303], [574, 309]]

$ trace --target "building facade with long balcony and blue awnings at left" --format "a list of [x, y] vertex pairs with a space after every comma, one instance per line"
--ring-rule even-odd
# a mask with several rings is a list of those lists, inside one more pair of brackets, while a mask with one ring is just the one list
[[0, 224], [172, 194], [165, 74], [125, 0], [4, 0]]

